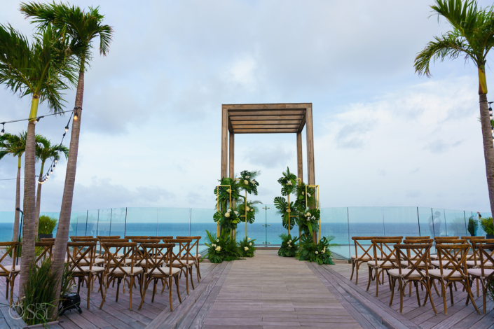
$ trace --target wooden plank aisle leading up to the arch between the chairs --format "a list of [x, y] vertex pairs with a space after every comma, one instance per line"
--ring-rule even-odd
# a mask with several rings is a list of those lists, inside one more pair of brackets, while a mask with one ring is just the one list
[[204, 329], [361, 328], [307, 262], [256, 251], [235, 260]]

